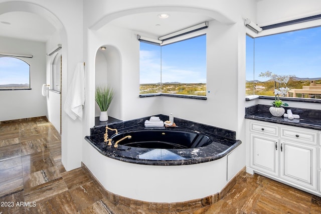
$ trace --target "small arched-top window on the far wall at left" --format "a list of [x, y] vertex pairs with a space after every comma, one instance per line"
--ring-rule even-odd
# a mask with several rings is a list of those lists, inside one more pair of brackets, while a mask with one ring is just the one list
[[0, 90], [30, 89], [30, 65], [15, 57], [0, 57]]

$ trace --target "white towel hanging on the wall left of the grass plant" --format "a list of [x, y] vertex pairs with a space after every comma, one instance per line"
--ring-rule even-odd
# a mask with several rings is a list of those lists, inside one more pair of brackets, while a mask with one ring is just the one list
[[84, 64], [78, 63], [69, 86], [64, 111], [73, 120], [82, 120], [82, 109], [85, 105], [85, 70]]

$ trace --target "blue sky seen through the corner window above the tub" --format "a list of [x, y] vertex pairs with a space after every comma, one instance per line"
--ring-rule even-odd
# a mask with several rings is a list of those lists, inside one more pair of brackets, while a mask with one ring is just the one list
[[162, 47], [141, 42], [139, 73], [140, 84], [161, 78], [163, 83], [206, 83], [206, 36]]

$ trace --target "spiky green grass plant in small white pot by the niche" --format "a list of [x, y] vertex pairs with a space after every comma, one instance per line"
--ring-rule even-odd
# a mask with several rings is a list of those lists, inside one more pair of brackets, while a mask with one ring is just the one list
[[114, 91], [108, 86], [96, 86], [95, 101], [100, 108], [100, 121], [107, 121], [107, 110], [110, 106], [112, 99], [114, 98]]

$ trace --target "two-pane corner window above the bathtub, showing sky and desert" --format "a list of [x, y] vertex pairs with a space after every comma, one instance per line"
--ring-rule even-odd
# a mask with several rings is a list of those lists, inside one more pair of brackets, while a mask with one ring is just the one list
[[206, 96], [206, 35], [157, 46], [140, 42], [139, 94]]

